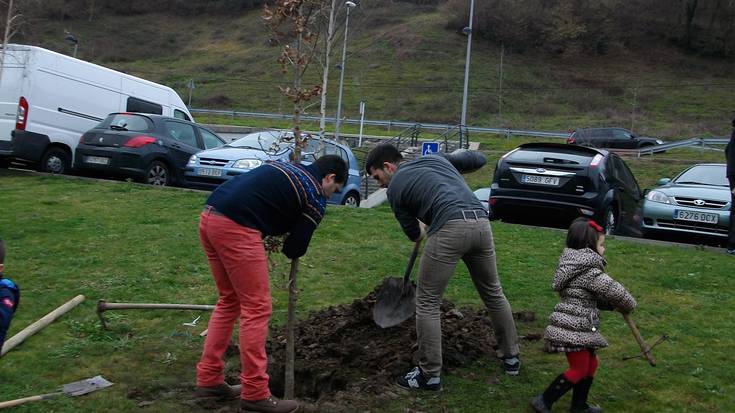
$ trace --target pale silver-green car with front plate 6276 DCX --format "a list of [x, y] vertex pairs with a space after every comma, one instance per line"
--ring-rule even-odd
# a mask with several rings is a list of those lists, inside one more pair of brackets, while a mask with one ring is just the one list
[[660, 179], [643, 201], [644, 234], [679, 233], [727, 239], [730, 188], [725, 164], [697, 164]]

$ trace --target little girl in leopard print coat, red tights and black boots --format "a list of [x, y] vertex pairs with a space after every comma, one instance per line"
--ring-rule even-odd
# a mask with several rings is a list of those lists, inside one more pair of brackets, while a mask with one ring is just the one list
[[599, 308], [628, 313], [636, 301], [604, 272], [605, 235], [596, 222], [576, 219], [569, 227], [566, 244], [552, 284], [560, 302], [549, 317], [544, 340], [547, 351], [566, 353], [569, 368], [533, 399], [531, 406], [536, 412], [551, 412], [551, 405], [573, 388], [570, 411], [600, 413], [600, 407], [587, 404], [599, 364], [595, 350], [607, 347], [599, 331]]

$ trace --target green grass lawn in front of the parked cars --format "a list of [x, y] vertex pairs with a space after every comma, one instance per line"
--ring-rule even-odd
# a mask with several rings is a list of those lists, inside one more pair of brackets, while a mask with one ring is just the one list
[[[473, 187], [488, 179], [488, 168], [468, 178]], [[651, 175], [669, 172], [659, 169]], [[95, 303], [213, 304], [215, 289], [196, 231], [205, 197], [202, 192], [127, 182], [0, 170], [6, 274], [23, 287], [8, 336], [77, 294], [87, 297], [0, 359], [0, 399], [48, 393], [61, 384], [102, 374], [115, 386], [88, 396], [30, 403], [16, 411], [200, 411], [180, 404], [168, 391], [194, 385], [202, 346], [198, 333], [206, 314], [200, 327], [191, 328], [182, 323], [199, 312], [111, 311], [111, 330], [104, 331]], [[503, 223], [493, 228], [506, 295], [515, 311], [537, 315], [534, 322], [518, 324], [519, 334], [541, 333], [557, 302], [550, 283], [564, 233]], [[665, 333], [670, 339], [655, 349], [655, 368], [641, 360], [623, 362], [623, 356], [639, 352], [638, 346], [622, 317], [606, 313], [602, 332], [610, 347], [600, 352], [602, 364], [591, 400], [611, 412], [732, 411], [735, 259], [695, 248], [615, 239], [607, 248], [610, 274], [639, 302], [633, 318], [643, 335], [654, 340]], [[330, 206], [302, 258], [299, 316], [364, 297], [383, 277], [402, 274], [410, 249], [386, 206]], [[278, 255], [274, 265], [273, 323], [282, 324], [288, 261]], [[464, 267], [451, 281], [447, 298], [459, 305], [480, 305]], [[539, 341], [523, 340], [522, 355], [518, 377], [503, 375], [488, 358], [444, 375], [441, 395], [376, 402], [373, 411], [528, 411], [528, 400], [566, 363], [560, 355], [543, 353]], [[141, 408], [140, 400], [152, 404]], [[568, 402], [566, 396], [557, 411], [566, 410]]]

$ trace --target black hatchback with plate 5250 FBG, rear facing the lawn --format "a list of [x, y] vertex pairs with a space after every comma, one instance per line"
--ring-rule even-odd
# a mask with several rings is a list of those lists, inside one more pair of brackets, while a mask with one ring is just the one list
[[608, 234], [640, 236], [642, 194], [616, 154], [576, 145], [528, 143], [495, 167], [490, 207], [494, 219], [594, 219]]

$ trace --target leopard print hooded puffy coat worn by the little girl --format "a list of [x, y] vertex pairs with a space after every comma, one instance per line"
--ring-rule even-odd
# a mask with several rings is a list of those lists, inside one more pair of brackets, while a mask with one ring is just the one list
[[552, 284], [561, 300], [544, 333], [547, 351], [607, 347], [607, 340], [599, 331], [598, 306], [621, 312], [635, 308], [633, 296], [605, 274], [605, 264], [605, 259], [589, 248], [564, 249]]

